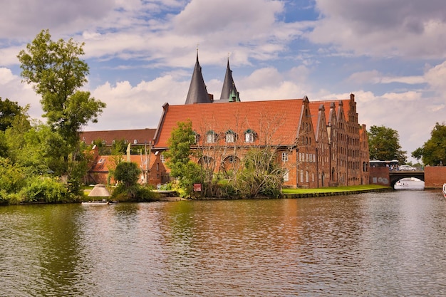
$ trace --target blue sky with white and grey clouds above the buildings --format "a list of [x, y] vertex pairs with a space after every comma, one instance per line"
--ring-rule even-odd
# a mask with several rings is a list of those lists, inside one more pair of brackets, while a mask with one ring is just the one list
[[[410, 152], [446, 120], [444, 0], [0, 0], [0, 97], [31, 105], [19, 51], [42, 29], [85, 42], [87, 90], [107, 104], [85, 130], [156, 128], [199, 63], [219, 98], [227, 58], [240, 98], [356, 95], [360, 123]], [[409, 159], [413, 160], [413, 159]], [[413, 160], [414, 161], [414, 160]]]

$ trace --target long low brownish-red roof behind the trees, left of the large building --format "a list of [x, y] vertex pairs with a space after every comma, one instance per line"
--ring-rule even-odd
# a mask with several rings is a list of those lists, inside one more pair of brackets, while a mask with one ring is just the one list
[[153, 141], [156, 129], [136, 129], [136, 130], [108, 130], [108, 131], [83, 131], [81, 132], [81, 141], [90, 145], [93, 140], [105, 140], [107, 145], [111, 145], [113, 140], [127, 140], [134, 143], [149, 143]]

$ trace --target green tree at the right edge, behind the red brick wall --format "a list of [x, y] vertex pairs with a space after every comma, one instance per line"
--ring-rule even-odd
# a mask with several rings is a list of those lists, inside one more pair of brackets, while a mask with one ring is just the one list
[[416, 159], [425, 165], [445, 165], [446, 163], [446, 124], [435, 123], [430, 132], [430, 140], [412, 152]]

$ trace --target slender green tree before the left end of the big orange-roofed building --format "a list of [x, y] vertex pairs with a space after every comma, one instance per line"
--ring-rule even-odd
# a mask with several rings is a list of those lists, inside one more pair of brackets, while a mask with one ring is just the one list
[[202, 182], [202, 169], [192, 161], [194, 152], [190, 146], [195, 143], [195, 132], [192, 130], [192, 122], [177, 123], [177, 128], [172, 130], [168, 140], [169, 150], [165, 152], [167, 167], [170, 168], [172, 177], [177, 177], [180, 187], [185, 194], [191, 195], [193, 185]]

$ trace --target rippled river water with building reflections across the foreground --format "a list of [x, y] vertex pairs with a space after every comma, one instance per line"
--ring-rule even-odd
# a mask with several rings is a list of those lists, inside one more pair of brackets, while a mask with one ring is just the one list
[[440, 191], [0, 207], [0, 296], [446, 296]]

